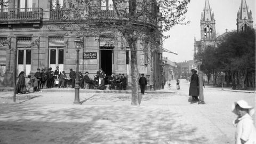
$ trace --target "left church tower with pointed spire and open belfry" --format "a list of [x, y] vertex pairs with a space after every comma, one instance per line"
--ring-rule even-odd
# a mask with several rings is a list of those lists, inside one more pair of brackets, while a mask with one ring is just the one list
[[201, 14], [201, 41], [216, 38], [215, 19], [209, 0], [205, 0], [203, 12]]

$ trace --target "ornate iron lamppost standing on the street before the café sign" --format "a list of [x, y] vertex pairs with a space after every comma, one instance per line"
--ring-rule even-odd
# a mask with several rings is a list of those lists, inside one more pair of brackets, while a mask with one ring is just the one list
[[81, 104], [80, 100], [79, 100], [79, 75], [78, 75], [78, 71], [79, 71], [79, 50], [82, 48], [83, 42], [81, 41], [81, 39], [79, 39], [79, 37], [77, 37], [74, 41], [75, 43], [75, 47], [76, 47], [76, 80], [75, 80], [75, 101], [74, 103], [78, 103]]

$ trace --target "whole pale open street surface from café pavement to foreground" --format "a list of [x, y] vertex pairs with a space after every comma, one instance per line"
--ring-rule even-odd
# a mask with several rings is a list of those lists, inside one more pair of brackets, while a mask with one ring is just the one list
[[73, 105], [72, 91], [17, 95], [17, 103], [1, 92], [0, 143], [234, 143], [231, 104], [255, 106], [255, 93], [206, 87], [206, 105], [197, 105], [188, 102], [189, 82], [180, 87], [147, 93], [141, 106], [129, 93], [83, 92]]

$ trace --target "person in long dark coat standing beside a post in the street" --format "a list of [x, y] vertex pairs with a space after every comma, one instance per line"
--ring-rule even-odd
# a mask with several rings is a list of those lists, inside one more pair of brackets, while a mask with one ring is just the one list
[[190, 78], [189, 94], [188, 95], [192, 96], [191, 103], [195, 103], [195, 102], [199, 101], [199, 99], [198, 99], [198, 95], [199, 95], [199, 92], [198, 92], [198, 86], [199, 86], [198, 75], [196, 74], [197, 71], [195, 69], [191, 69], [191, 72], [192, 72], [192, 76]]

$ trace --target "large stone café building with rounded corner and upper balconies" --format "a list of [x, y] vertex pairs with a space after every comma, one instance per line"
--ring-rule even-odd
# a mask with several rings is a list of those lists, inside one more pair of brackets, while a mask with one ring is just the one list
[[[0, 0], [5, 2], [5, 0]], [[156, 1], [147, 0], [150, 9], [158, 13]], [[125, 4], [125, 5], [124, 5]], [[118, 5], [118, 9], [129, 12], [128, 1]], [[25, 71], [26, 76], [34, 75], [37, 68], [55, 70], [69, 74], [69, 69], [76, 69], [76, 49], [74, 49], [75, 34], [68, 34], [55, 23], [63, 23], [62, 7], [68, 5], [67, 0], [9, 0], [9, 5], [1, 5], [0, 9], [0, 66], [2, 68], [0, 81], [5, 86], [13, 85], [14, 50], [17, 50], [17, 75]], [[96, 1], [102, 20], [117, 20], [113, 2]], [[123, 12], [125, 13], [125, 11]], [[123, 17], [125, 19], [125, 14]], [[157, 19], [138, 21], [141, 25], [157, 28]], [[88, 30], [92, 34], [93, 31]], [[102, 68], [106, 75], [115, 73], [125, 74], [128, 84], [131, 83], [131, 51], [124, 38], [113, 31], [102, 31], [100, 35], [86, 35], [82, 37], [83, 46], [79, 51], [79, 71], [83, 74], [89, 71], [90, 77]], [[148, 85], [159, 82], [162, 76], [162, 51], [150, 52], [149, 47], [143, 46], [140, 41], [138, 47], [138, 70], [147, 75]], [[147, 51], [148, 50], [148, 51]], [[1, 77], [2, 76], [2, 77]], [[157, 85], [156, 85], [157, 87]]]

